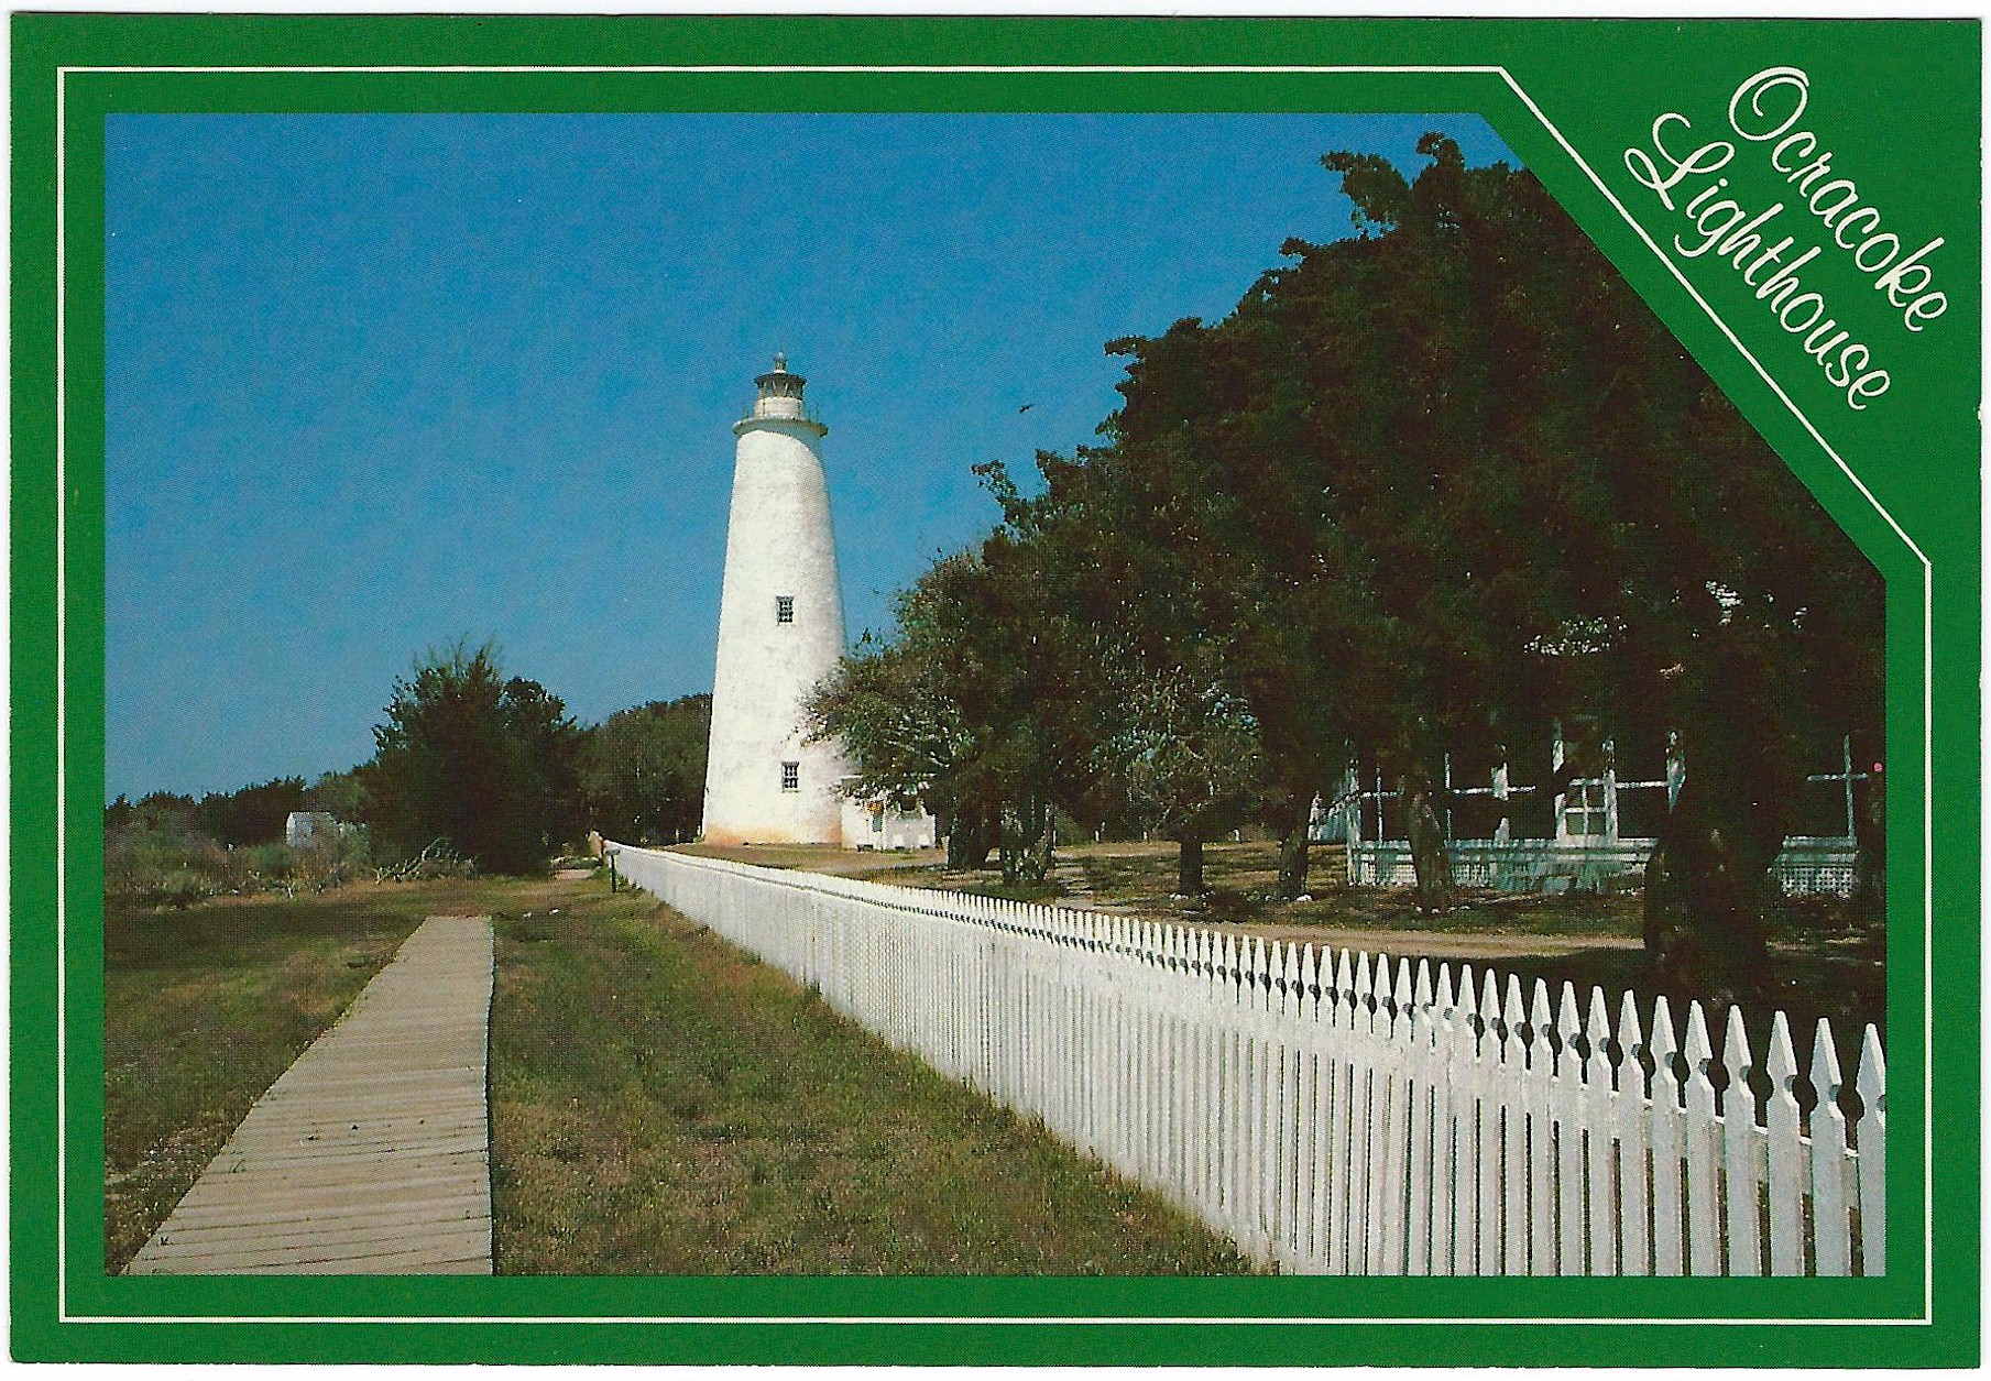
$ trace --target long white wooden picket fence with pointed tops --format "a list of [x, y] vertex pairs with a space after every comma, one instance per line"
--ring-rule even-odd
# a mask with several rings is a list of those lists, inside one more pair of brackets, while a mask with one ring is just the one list
[[[894, 1047], [1304, 1274], [1878, 1276], [1885, 1065], [1848, 1124], [1778, 1013], [1316, 953], [1129, 917], [627, 846], [637, 886]], [[1768, 1075], [1766, 1096], [1752, 1085]], [[1814, 1094], [1816, 1090], [1816, 1094]]]

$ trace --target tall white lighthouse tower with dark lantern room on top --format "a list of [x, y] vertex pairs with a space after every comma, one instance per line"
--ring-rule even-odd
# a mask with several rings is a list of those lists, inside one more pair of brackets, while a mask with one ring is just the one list
[[848, 772], [834, 742], [804, 744], [802, 700], [844, 653], [844, 597], [820, 444], [786, 356], [755, 380], [733, 426], [733, 515], [719, 593], [719, 663], [705, 764], [709, 844], [842, 844]]

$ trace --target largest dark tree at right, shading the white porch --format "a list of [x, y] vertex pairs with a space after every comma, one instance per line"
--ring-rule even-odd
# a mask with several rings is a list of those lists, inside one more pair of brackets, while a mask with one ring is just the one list
[[1117, 346], [1081, 503], [1220, 553], [1147, 569], [1222, 647], [1290, 798], [1346, 746], [1382, 762], [1432, 905], [1447, 750], [1577, 710], [1678, 728], [1647, 937], [1662, 973], [1746, 987], [1798, 746], [1880, 728], [1880, 583], [1529, 173], [1420, 151], [1416, 179], [1328, 155], [1356, 237], [1292, 241], [1222, 322]]

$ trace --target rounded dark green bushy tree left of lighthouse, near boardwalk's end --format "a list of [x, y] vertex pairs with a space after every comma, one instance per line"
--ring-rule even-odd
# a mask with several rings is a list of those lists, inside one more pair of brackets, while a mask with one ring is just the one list
[[532, 874], [577, 828], [579, 730], [557, 696], [506, 681], [490, 645], [432, 651], [394, 681], [358, 776], [390, 852], [436, 840], [490, 872]]

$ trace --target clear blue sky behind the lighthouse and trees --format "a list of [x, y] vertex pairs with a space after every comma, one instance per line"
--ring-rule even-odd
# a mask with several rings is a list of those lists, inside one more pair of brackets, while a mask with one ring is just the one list
[[[850, 635], [1113, 410], [1105, 340], [1350, 231], [1475, 115], [115, 115], [108, 794], [372, 752], [428, 647], [581, 720], [709, 690], [733, 422], [830, 426]], [[1021, 408], [1029, 404], [1027, 412]]]

